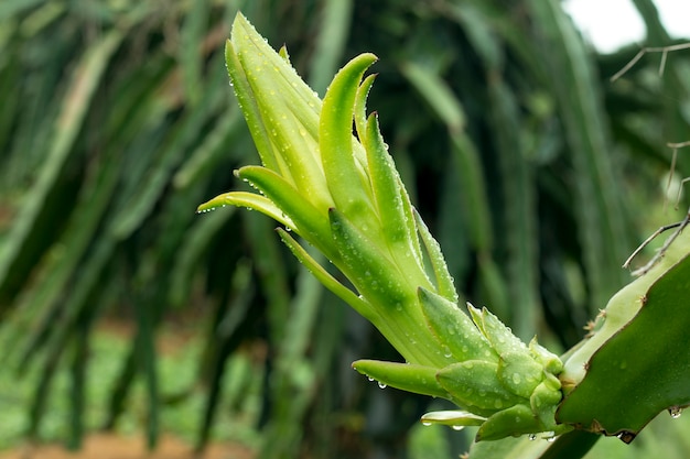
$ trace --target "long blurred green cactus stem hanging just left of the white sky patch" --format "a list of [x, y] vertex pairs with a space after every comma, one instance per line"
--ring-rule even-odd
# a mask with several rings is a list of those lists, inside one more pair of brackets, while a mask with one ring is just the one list
[[530, 0], [525, 7], [535, 20], [535, 47], [549, 76], [546, 84], [557, 102], [562, 129], [571, 152], [574, 176], [574, 215], [578, 239], [583, 250], [584, 272], [591, 304], [606, 303], [625, 281], [617, 269], [628, 251], [623, 193], [612, 184], [622, 181], [619, 166], [610, 154], [603, 99], [592, 97], [602, 88], [592, 58], [572, 20], [558, 0]]

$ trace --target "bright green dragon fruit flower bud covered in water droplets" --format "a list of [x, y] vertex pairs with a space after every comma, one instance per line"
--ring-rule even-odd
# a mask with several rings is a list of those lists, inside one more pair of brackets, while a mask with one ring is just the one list
[[[360, 360], [381, 385], [448, 398], [462, 411], [425, 423], [479, 425], [478, 439], [563, 431], [558, 357], [526, 346], [486, 309], [457, 307], [438, 242], [410, 204], [376, 114], [366, 114], [376, 56], [362, 54], [335, 76], [321, 101], [238, 14], [226, 63], [261, 166], [237, 176], [259, 193], [231, 192], [200, 206], [244, 206], [276, 219], [283, 242], [320, 282], [370, 320], [406, 362]], [[364, 80], [363, 80], [364, 78]], [[356, 136], [353, 135], [353, 122]], [[301, 239], [291, 234], [298, 234]], [[303, 243], [352, 283], [339, 283]]]

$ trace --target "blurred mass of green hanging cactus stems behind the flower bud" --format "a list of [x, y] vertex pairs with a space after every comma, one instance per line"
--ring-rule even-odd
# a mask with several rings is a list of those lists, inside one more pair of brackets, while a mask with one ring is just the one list
[[[632, 4], [642, 44], [690, 37]], [[463, 298], [524, 339], [578, 342], [627, 255], [684, 215], [690, 147], [669, 175], [667, 144], [690, 140], [690, 51], [612, 83], [639, 45], [597, 52], [557, 0], [3, 0], [0, 457], [105, 438], [226, 458], [467, 449], [470, 429], [419, 423], [443, 402], [351, 370], [399, 358], [274, 222], [195, 215], [258, 162], [223, 56], [240, 10], [322, 96], [347, 59], [380, 57], [368, 106], [414, 205]], [[686, 458], [688, 417], [590, 457]]]

